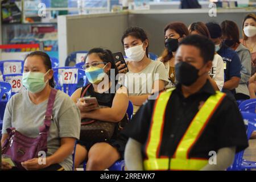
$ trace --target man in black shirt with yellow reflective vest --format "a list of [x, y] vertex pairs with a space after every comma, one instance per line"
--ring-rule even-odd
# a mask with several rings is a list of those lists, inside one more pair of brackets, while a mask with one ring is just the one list
[[175, 89], [146, 101], [123, 133], [129, 170], [225, 170], [247, 146], [237, 105], [208, 80], [214, 44], [191, 35], [175, 56]]

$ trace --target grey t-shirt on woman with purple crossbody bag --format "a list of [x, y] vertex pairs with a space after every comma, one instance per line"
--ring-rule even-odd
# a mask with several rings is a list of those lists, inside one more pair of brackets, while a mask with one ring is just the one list
[[[6, 105], [2, 134], [7, 133], [7, 128], [15, 127], [17, 131], [28, 137], [37, 137], [39, 127], [44, 124], [47, 103], [48, 100], [35, 105], [30, 100], [27, 90], [15, 94]], [[47, 139], [47, 156], [59, 149], [61, 138], [79, 139], [80, 126], [80, 110], [67, 94], [58, 91], [53, 105], [53, 121]], [[60, 165], [65, 170], [72, 170], [72, 155], [69, 155]]]

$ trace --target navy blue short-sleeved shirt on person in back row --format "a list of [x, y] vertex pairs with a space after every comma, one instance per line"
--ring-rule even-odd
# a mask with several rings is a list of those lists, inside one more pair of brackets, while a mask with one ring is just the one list
[[[228, 46], [222, 44], [220, 50], [218, 50], [218, 55], [220, 55], [224, 61], [224, 78], [225, 82], [229, 81], [232, 77], [241, 78], [241, 61], [236, 53]], [[231, 90], [234, 91], [234, 90]]]

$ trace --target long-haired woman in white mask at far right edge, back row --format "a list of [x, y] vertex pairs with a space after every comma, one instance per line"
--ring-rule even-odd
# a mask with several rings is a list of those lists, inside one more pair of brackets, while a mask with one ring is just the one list
[[251, 53], [251, 75], [254, 75], [256, 72], [256, 15], [253, 13], [246, 15], [243, 19], [242, 28], [243, 39], [240, 41]]

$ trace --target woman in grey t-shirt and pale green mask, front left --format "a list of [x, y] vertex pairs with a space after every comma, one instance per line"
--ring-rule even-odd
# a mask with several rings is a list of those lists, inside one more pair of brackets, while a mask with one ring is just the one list
[[[41, 165], [38, 158], [33, 158], [21, 162], [22, 167], [19, 166], [17, 170], [72, 170], [72, 152], [76, 139], [80, 137], [80, 111], [67, 94], [53, 89], [53, 70], [46, 53], [37, 51], [27, 55], [22, 84], [27, 90], [11, 97], [6, 106], [2, 146], [9, 138], [7, 129], [10, 127], [15, 127], [16, 131], [27, 137], [38, 137], [39, 127], [45, 124], [46, 110], [49, 109], [48, 101], [54, 102], [52, 113], [49, 112], [52, 119], [47, 134], [46, 163]], [[52, 97], [53, 93], [56, 93], [55, 100]], [[10, 157], [15, 160], [15, 156]], [[4, 162], [2, 166], [6, 170], [13, 168]]]

